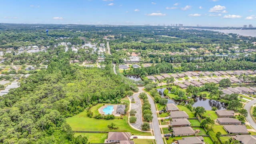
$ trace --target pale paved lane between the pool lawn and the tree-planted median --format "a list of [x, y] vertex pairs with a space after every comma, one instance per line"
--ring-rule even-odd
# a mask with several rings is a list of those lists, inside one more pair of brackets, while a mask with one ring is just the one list
[[137, 112], [135, 114], [135, 117], [137, 118], [137, 120], [135, 123], [132, 124], [132, 126], [141, 130], [141, 125], [143, 124], [143, 122], [142, 122], [141, 102], [140, 102], [140, 98], [138, 97], [139, 94], [140, 92], [133, 94], [133, 98], [136, 103], [131, 104], [131, 109], [134, 109]]

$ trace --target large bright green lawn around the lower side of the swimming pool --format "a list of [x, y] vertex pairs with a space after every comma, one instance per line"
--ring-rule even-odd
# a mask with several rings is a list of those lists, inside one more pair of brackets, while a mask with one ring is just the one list
[[[93, 106], [91, 108], [92, 112], [95, 112], [95, 109], [97, 108], [97, 106], [98, 105]], [[89, 118], [87, 116], [87, 112], [83, 111], [75, 116], [66, 118], [66, 122], [71, 126], [72, 130], [77, 130], [77, 131], [131, 132], [131, 134], [135, 134], [135, 135], [148, 135], [148, 136], [151, 135], [149, 132], [140, 132], [131, 128], [128, 124], [127, 115], [123, 116], [123, 119], [98, 120], [95, 118]], [[107, 127], [108, 124], [111, 124], [112, 122], [116, 124], [116, 127], [118, 127], [117, 130], [112, 130]]]

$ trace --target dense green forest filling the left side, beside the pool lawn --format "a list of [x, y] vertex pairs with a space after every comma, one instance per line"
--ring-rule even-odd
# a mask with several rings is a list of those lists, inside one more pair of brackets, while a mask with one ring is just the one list
[[[130, 90], [112, 72], [69, 64], [68, 53], [54, 50], [47, 70], [29, 76], [0, 97], [1, 143], [79, 143], [64, 118], [98, 102], [118, 103]], [[58, 57], [57, 57], [58, 56]]]

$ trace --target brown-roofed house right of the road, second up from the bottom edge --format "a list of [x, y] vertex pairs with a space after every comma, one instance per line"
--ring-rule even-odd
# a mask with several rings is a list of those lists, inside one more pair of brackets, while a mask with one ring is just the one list
[[174, 136], [192, 136], [196, 132], [191, 127], [172, 128]]

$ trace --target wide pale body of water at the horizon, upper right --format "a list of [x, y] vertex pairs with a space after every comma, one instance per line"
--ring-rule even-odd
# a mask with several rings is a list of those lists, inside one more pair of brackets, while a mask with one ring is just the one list
[[256, 30], [212, 30], [214, 32], [224, 32], [224, 33], [233, 33], [239, 34], [241, 36], [253, 36], [256, 37]]

